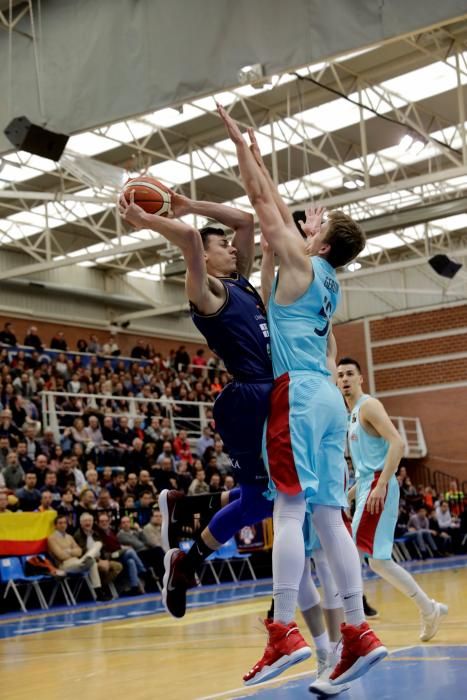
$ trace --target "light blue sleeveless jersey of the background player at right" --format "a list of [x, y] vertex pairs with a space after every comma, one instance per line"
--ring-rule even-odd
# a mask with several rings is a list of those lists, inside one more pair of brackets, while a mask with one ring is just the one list
[[356, 479], [373, 478], [382, 471], [389, 450], [389, 443], [382, 437], [366, 432], [360, 423], [360, 408], [371, 396], [363, 394], [349, 416], [349, 449]]

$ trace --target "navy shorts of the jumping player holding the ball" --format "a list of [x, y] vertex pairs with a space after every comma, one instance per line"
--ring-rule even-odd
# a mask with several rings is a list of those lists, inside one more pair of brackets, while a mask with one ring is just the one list
[[262, 457], [263, 430], [269, 412], [273, 382], [247, 384], [233, 381], [216, 399], [214, 420], [239, 484], [266, 488], [268, 474]]

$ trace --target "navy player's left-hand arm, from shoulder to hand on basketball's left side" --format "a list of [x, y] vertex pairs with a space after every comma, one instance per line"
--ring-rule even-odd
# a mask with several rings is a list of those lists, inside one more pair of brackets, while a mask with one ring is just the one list
[[[210, 281], [206, 271], [204, 248], [199, 231], [183, 221], [148, 214], [135, 204], [134, 192], [130, 193], [129, 201], [123, 195], [120, 197], [118, 210], [122, 219], [134, 228], [156, 231], [180, 248], [187, 268], [185, 284], [188, 299], [204, 313], [212, 313], [213, 307], [217, 306], [216, 289], [212, 289], [213, 282]], [[222, 289], [219, 283], [219, 293], [222, 293]]]

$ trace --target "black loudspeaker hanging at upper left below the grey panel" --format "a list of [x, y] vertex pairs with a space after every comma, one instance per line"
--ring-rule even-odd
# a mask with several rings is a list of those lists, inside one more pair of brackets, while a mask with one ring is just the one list
[[19, 150], [55, 161], [60, 159], [69, 139], [65, 134], [57, 134], [32, 124], [27, 117], [16, 117], [3, 133]]

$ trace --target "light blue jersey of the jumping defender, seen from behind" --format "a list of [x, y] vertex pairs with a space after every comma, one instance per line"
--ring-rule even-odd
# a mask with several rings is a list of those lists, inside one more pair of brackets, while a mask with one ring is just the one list
[[331, 319], [340, 299], [335, 269], [320, 256], [310, 258], [314, 279], [292, 304], [276, 302], [278, 277], [269, 299], [268, 322], [274, 377], [308, 371], [330, 375], [326, 350]]

